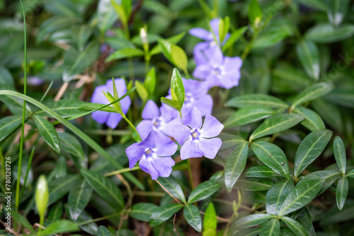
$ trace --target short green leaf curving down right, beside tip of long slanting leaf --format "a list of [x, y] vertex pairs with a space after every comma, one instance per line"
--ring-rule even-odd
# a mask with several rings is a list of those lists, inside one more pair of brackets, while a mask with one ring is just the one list
[[301, 124], [310, 131], [326, 129], [326, 126], [324, 126], [324, 121], [321, 119], [319, 114], [317, 114], [313, 110], [309, 110], [305, 107], [297, 107], [295, 108], [294, 113], [301, 114], [303, 117], [305, 117], [304, 121], [301, 122]]

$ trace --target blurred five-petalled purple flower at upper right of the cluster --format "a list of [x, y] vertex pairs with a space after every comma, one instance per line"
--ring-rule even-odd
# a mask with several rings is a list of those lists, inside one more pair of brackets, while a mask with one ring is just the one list
[[195, 67], [193, 71], [195, 78], [207, 81], [209, 88], [219, 86], [229, 89], [239, 85], [242, 66], [242, 60], [239, 57], [224, 57], [219, 47], [205, 53], [209, 61]]

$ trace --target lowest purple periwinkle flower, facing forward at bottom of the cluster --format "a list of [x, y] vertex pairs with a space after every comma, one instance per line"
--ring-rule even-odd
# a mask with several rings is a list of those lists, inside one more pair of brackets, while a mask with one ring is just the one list
[[125, 153], [129, 158], [129, 167], [132, 169], [139, 161], [144, 172], [149, 173], [152, 179], [169, 177], [175, 161], [171, 155], [176, 153], [177, 144], [166, 136], [159, 136], [156, 131], [150, 131], [147, 138], [140, 143], [129, 146]]

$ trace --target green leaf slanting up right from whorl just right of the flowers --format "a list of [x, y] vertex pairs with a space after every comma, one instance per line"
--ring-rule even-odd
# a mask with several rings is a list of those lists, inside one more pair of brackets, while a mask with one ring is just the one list
[[299, 114], [278, 114], [275, 117], [270, 117], [265, 119], [265, 121], [253, 131], [249, 140], [252, 141], [256, 138], [285, 131], [297, 125], [303, 119], [304, 117]]

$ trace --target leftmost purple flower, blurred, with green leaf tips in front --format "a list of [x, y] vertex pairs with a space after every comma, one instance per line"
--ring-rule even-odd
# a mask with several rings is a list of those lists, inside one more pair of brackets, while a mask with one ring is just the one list
[[[125, 80], [123, 78], [115, 78], [115, 87], [117, 88], [118, 95], [120, 97], [122, 95], [125, 95], [125, 93], [127, 93], [127, 86], [125, 85]], [[111, 95], [113, 95], [112, 79], [107, 81], [105, 85], [100, 85], [95, 88], [95, 90], [93, 91], [93, 95], [91, 97], [91, 102], [101, 103], [105, 105], [109, 104], [110, 102], [108, 101], [107, 98], [105, 98], [103, 92], [110, 93]], [[130, 107], [129, 96], [120, 100], [120, 105], [122, 106], [122, 112], [126, 114]], [[92, 118], [100, 124], [107, 124], [107, 126], [110, 127], [111, 129], [115, 129], [115, 127], [118, 126], [120, 120], [122, 119], [122, 116], [114, 112], [96, 111], [96, 112], [92, 112]]]

